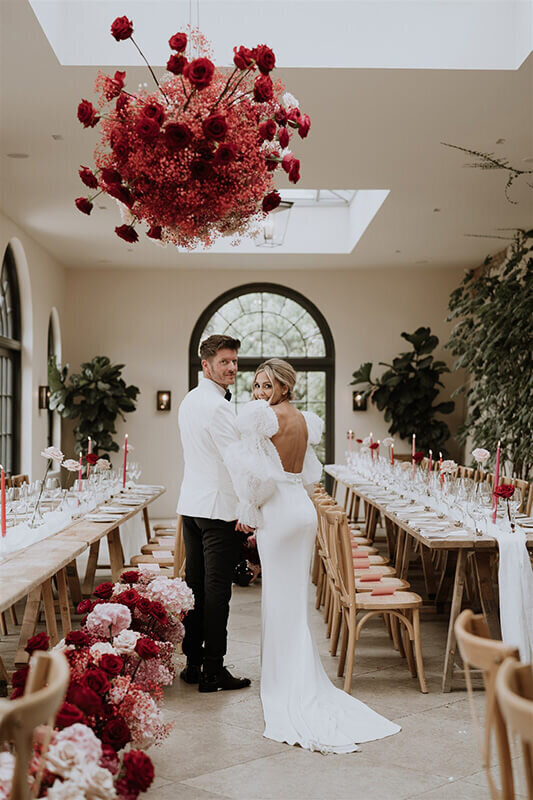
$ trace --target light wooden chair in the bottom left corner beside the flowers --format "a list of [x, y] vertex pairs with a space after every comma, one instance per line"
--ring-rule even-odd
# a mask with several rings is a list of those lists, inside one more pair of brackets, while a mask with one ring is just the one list
[[[13, 742], [15, 770], [10, 800], [29, 800], [29, 764], [33, 755], [33, 734], [38, 725], [48, 724], [50, 734], [55, 715], [63, 702], [70, 669], [63, 653], [34, 653], [24, 695], [0, 700], [0, 742]], [[40, 783], [40, 780], [39, 780]], [[35, 788], [33, 796], [37, 796]]]

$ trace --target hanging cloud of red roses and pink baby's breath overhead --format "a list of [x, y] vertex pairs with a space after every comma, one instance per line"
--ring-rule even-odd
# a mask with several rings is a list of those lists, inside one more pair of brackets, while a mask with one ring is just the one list
[[98, 109], [88, 100], [78, 106], [81, 124], [100, 125], [102, 132], [96, 168], [79, 170], [85, 186], [98, 191], [78, 197], [77, 208], [90, 214], [94, 198], [106, 193], [123, 211], [124, 224], [115, 228], [121, 239], [138, 241], [137, 225], [144, 222], [151, 239], [188, 249], [243, 234], [277, 208], [274, 172], [281, 167], [291, 183], [299, 181], [300, 161], [289, 143], [295, 131], [305, 139], [311, 120], [281, 81], [272, 81], [272, 50], [235, 47], [233, 69], [222, 70], [207, 57], [199, 31], [176, 33], [159, 83], [132, 22], [118, 17], [111, 34], [132, 40], [157, 89], [130, 93], [125, 72], [99, 73]]

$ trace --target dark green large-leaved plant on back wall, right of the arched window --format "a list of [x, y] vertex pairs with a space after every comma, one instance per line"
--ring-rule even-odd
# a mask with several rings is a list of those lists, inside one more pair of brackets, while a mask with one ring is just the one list
[[400, 353], [392, 364], [380, 361], [388, 369], [381, 378], [371, 378], [372, 362], [367, 361], [353, 373], [352, 385], [364, 385], [364, 394], [385, 412], [390, 422], [389, 433], [408, 439], [416, 434], [419, 450], [444, 451], [444, 443], [450, 436], [448, 425], [436, 414], [450, 414], [455, 403], [446, 401], [434, 405], [439, 387], [444, 384], [441, 376], [450, 370], [444, 361], [435, 361], [431, 355], [439, 343], [431, 328], [417, 328], [414, 333], [402, 333], [413, 349]]

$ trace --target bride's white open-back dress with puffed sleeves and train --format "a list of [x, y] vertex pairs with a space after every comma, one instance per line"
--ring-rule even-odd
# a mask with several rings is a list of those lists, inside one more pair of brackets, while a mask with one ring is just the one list
[[309, 629], [317, 518], [305, 487], [320, 480], [321, 465], [311, 445], [320, 441], [323, 423], [312, 412], [303, 414], [308, 445], [302, 473], [284, 471], [271, 441], [277, 416], [264, 400], [249, 403], [239, 414], [242, 438], [227, 459], [239, 520], [256, 528], [261, 558], [264, 735], [323, 753], [350, 753], [361, 742], [397, 733], [400, 726], [331, 683]]

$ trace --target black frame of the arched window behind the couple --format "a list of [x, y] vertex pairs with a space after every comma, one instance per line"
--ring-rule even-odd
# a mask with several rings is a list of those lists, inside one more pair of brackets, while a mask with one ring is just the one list
[[[278, 294], [293, 300], [302, 306], [316, 322], [320, 333], [324, 339], [324, 356], [289, 356], [288, 360], [298, 371], [324, 372], [326, 376], [326, 463], [334, 461], [335, 450], [335, 344], [330, 327], [321, 311], [300, 292], [289, 289], [277, 283], [247, 283], [236, 286], [227, 292], [219, 295], [202, 312], [191, 335], [189, 344], [189, 389], [194, 389], [198, 385], [198, 373], [201, 372], [202, 364], [199, 356], [200, 339], [211, 317], [230, 300], [242, 297], [245, 294], [255, 292], [268, 292]], [[277, 355], [277, 354], [272, 354]], [[239, 356], [239, 370], [248, 371], [256, 369], [261, 361], [268, 358], [268, 355], [247, 357]]]

